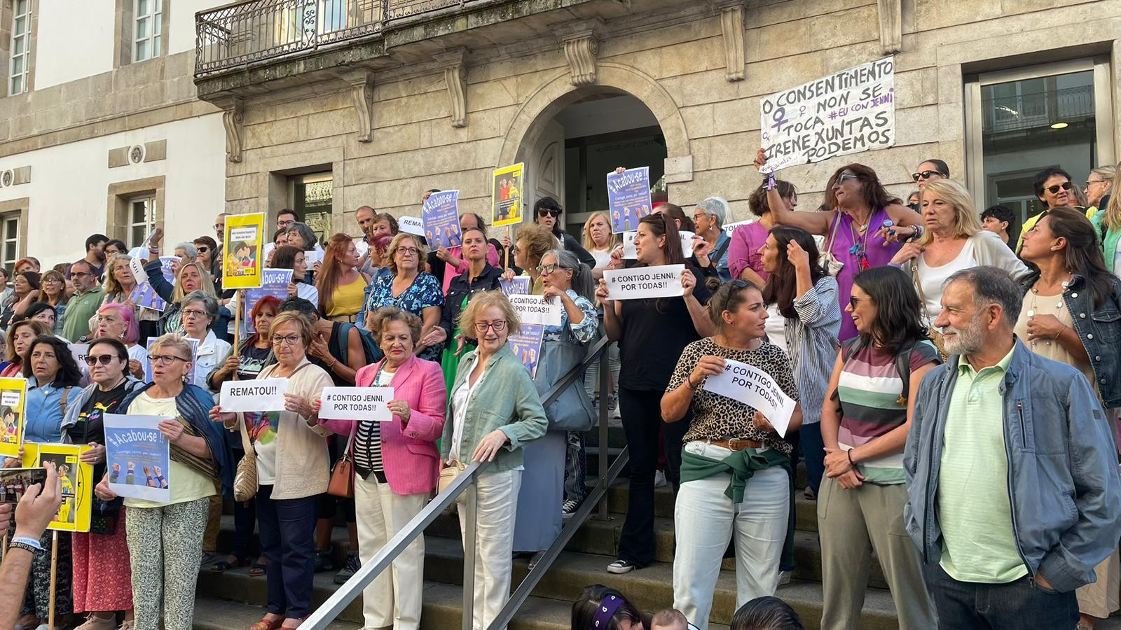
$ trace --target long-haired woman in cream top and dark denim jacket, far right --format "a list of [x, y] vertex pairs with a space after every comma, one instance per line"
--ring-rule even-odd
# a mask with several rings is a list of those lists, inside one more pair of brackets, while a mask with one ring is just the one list
[[[1097, 392], [1117, 436], [1121, 407], [1121, 280], [1105, 269], [1097, 232], [1072, 207], [1053, 207], [1023, 235], [1021, 254], [1039, 270], [1022, 285], [1016, 334], [1041, 356], [1077, 368]], [[1121, 602], [1121, 562], [1114, 550], [1080, 587], [1080, 627], [1093, 628]]]

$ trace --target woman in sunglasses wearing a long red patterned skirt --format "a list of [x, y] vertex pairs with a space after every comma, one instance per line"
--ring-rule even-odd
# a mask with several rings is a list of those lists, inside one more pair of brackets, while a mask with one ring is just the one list
[[[93, 479], [100, 481], [106, 471], [105, 414], [119, 413], [128, 395], [145, 383], [129, 374], [129, 351], [115, 335], [91, 341], [85, 364], [92, 382], [66, 409], [63, 432], [66, 442], [90, 446], [82, 462], [93, 466]], [[124, 611], [124, 621], [131, 627], [132, 572], [121, 507], [119, 499], [95, 502], [95, 522], [109, 524], [108, 530], [91, 528], [87, 534], [73, 534], [74, 612], [89, 612], [77, 630], [113, 630], [117, 611]]]

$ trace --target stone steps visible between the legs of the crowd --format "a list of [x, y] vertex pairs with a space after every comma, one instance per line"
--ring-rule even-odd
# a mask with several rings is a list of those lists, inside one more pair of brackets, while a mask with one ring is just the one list
[[[618, 423], [618, 421], [615, 421]], [[624, 445], [621, 426], [611, 426], [608, 448], [614, 454]], [[599, 448], [597, 432], [589, 434], [589, 471], [591, 481], [596, 471]], [[618, 589], [640, 610], [654, 613], [673, 605], [673, 494], [668, 487], [656, 491], [655, 529], [656, 563], [623, 575], [612, 575], [606, 566], [615, 559], [619, 535], [627, 512], [627, 479], [620, 478], [609, 492], [610, 520], [592, 517], [576, 532], [564, 554], [549, 568], [532, 596], [518, 612], [510, 628], [513, 630], [566, 630], [569, 628], [572, 602], [584, 586], [605, 584]], [[793, 605], [802, 615], [807, 629], [819, 628], [822, 615], [821, 549], [817, 544], [816, 503], [803, 497], [805, 467], [798, 467], [795, 508], [796, 569], [790, 584], [779, 586], [779, 597]], [[222, 521], [219, 548], [228, 549], [233, 536], [233, 517]], [[346, 530], [336, 527], [333, 536], [335, 565], [340, 566], [348, 547]], [[443, 515], [425, 532], [425, 584], [421, 627], [430, 630], [461, 628], [463, 548], [460, 543], [458, 519]], [[513, 564], [513, 586], [526, 576], [527, 559]], [[334, 590], [334, 572], [321, 573], [315, 578], [314, 604], [322, 603]], [[868, 594], [864, 600], [861, 628], [863, 630], [897, 629], [895, 605], [883, 581], [879, 565], [873, 562]], [[214, 574], [205, 567], [198, 576], [195, 628], [204, 630], [244, 630], [260, 619], [266, 593], [265, 577], [250, 577], [248, 569], [239, 568]], [[244, 603], [248, 602], [248, 603]], [[711, 628], [723, 630], [735, 611], [734, 558], [724, 560], [716, 591], [713, 595]], [[1099, 629], [1118, 628], [1118, 618], [1099, 623]], [[332, 628], [352, 630], [362, 627], [361, 597], [355, 600], [332, 624]]]

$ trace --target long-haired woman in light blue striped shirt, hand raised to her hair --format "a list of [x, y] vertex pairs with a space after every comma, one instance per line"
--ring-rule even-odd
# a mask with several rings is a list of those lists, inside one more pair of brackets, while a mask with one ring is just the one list
[[818, 421], [841, 327], [837, 281], [818, 263], [814, 238], [799, 228], [772, 228], [759, 253], [769, 275], [763, 302], [782, 317], [782, 336], [794, 362], [804, 409], [798, 437], [806, 457], [807, 489], [816, 495], [825, 458]]

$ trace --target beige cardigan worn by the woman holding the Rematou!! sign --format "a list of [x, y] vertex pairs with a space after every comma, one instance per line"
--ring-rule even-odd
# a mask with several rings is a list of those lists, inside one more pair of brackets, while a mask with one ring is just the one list
[[[305, 363], [307, 367], [300, 369]], [[257, 378], [271, 378], [279, 367], [274, 363], [261, 370]], [[288, 379], [287, 393], [303, 396], [314, 404], [323, 396], [323, 388], [335, 385], [323, 368], [312, 364], [306, 358], [297, 369], [299, 371]], [[244, 414], [238, 414], [238, 421], [245, 421]], [[331, 432], [318, 423], [307, 426], [303, 416], [294, 411], [280, 411], [277, 425], [277, 479], [272, 485], [272, 499], [302, 499], [327, 491], [331, 470], [326, 441], [328, 435]]]

